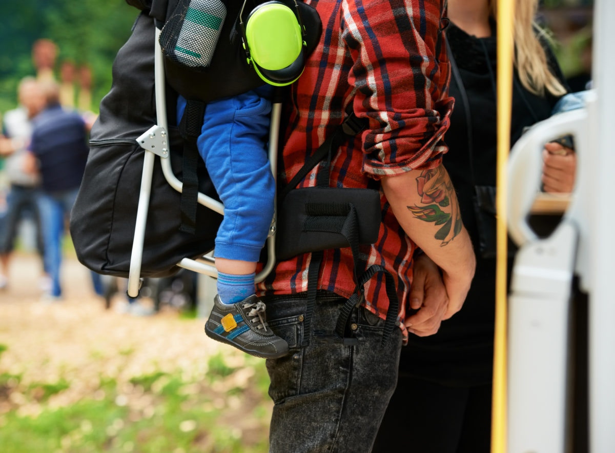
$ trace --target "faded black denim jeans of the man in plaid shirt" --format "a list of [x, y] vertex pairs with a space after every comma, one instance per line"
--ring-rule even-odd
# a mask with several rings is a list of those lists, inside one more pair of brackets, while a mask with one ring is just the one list
[[[344, 302], [320, 292], [312, 332], [333, 331]], [[301, 347], [306, 300], [276, 296], [266, 303], [269, 326], [291, 348], [288, 356], [267, 360], [275, 403], [269, 451], [370, 452], [397, 383], [400, 330], [381, 345], [384, 321], [358, 308], [351, 315], [357, 345], [322, 342], [310, 334], [309, 345]]]

